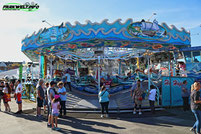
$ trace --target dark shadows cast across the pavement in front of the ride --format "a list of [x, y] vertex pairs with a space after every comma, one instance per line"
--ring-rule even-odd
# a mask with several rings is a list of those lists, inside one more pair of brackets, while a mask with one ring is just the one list
[[[24, 118], [26, 120], [36, 121], [36, 122], [46, 122], [47, 117], [44, 115], [44, 118], [39, 119], [35, 116], [35, 109], [24, 110], [23, 114], [17, 115], [13, 113], [8, 113], [12, 116], [18, 118]], [[88, 119], [88, 120], [87, 120]], [[93, 119], [93, 121], [91, 120]], [[95, 121], [94, 121], [95, 120]], [[111, 123], [104, 123], [103, 120], [111, 120]], [[132, 113], [120, 113], [120, 114], [110, 114], [109, 118], [101, 118], [98, 113], [67, 113], [67, 116], [59, 118], [59, 125], [70, 126], [75, 129], [85, 130], [90, 132], [98, 133], [111, 133], [107, 129], [97, 129], [94, 128], [94, 125], [104, 128], [114, 128], [114, 129], [126, 129], [125, 127], [114, 125], [114, 120], [126, 121], [132, 123], [140, 123], [153, 126], [162, 126], [162, 127], [173, 127], [173, 126], [184, 126], [191, 127], [194, 123], [194, 117], [191, 111], [182, 112], [178, 109], [169, 109], [164, 111], [157, 111], [156, 114], [152, 115], [150, 112], [144, 112], [142, 115], [133, 115]], [[61, 133], [81, 133], [74, 130], [67, 130], [61, 128]]]

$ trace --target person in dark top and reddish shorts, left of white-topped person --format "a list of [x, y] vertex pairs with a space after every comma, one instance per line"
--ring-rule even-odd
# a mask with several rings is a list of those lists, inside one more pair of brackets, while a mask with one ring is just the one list
[[10, 91], [10, 87], [9, 87], [9, 84], [8, 83], [5, 83], [5, 87], [3, 88], [3, 93], [4, 93], [4, 96], [3, 96], [3, 102], [4, 102], [4, 106], [5, 106], [5, 111], [6, 112], [10, 112], [10, 106], [8, 104], [8, 101], [9, 101], [9, 96], [8, 96], [8, 93]]

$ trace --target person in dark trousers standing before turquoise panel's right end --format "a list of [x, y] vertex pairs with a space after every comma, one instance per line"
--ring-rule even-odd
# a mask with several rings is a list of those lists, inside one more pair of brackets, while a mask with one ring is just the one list
[[190, 91], [187, 88], [187, 81], [183, 81], [183, 84], [181, 86], [181, 96], [183, 99], [183, 110], [187, 111], [189, 109], [189, 96], [190, 96]]

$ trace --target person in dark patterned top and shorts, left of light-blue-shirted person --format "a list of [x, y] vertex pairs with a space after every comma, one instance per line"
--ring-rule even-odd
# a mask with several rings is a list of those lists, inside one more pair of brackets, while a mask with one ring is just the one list
[[138, 83], [136, 89], [133, 91], [133, 100], [134, 100], [133, 114], [136, 114], [137, 106], [139, 106], [139, 115], [142, 114], [141, 107], [142, 107], [142, 100], [143, 100], [142, 98], [143, 91], [140, 87], [141, 87], [141, 84]]

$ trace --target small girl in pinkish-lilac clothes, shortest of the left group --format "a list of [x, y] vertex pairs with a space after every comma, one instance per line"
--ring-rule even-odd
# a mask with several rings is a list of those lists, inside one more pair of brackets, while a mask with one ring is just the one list
[[[55, 95], [54, 99], [52, 100], [52, 117], [51, 117], [51, 122], [52, 122], [52, 130], [60, 130], [57, 127], [57, 118], [59, 116], [59, 109], [60, 109], [60, 96]], [[54, 121], [55, 121], [55, 126], [54, 126]]]

